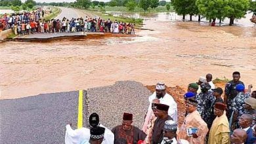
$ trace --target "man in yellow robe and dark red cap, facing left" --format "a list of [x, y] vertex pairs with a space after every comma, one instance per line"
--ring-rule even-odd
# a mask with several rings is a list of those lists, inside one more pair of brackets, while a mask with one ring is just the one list
[[217, 102], [214, 105], [214, 115], [217, 117], [213, 120], [211, 130], [209, 133], [209, 144], [217, 143], [230, 143], [230, 130], [228, 124], [228, 118], [224, 115], [226, 105], [221, 102]]

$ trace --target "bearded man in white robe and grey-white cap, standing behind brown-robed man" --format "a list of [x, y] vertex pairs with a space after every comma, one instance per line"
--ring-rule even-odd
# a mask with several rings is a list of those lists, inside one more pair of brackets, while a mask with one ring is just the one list
[[146, 126], [148, 126], [151, 115], [154, 115], [152, 113], [152, 102], [154, 99], [159, 99], [161, 104], [169, 105], [168, 115], [177, 122], [177, 103], [171, 95], [167, 94], [165, 84], [163, 82], [158, 82], [156, 84], [156, 92], [148, 98], [150, 105], [148, 106], [148, 112], [142, 128], [144, 132], [146, 132]]

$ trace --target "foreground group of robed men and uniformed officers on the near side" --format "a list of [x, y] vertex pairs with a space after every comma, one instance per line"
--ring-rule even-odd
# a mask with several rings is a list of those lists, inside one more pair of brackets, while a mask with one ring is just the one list
[[175, 99], [167, 94], [165, 84], [158, 82], [156, 92], [148, 99], [141, 130], [132, 125], [131, 113], [123, 113], [122, 123], [112, 130], [100, 124], [98, 115], [93, 113], [90, 128], [73, 130], [70, 124], [66, 126], [65, 143], [256, 143], [256, 91], [251, 92], [252, 84], [245, 90], [238, 71], [232, 77], [224, 92], [223, 88], [215, 88], [211, 74], [188, 84], [181, 126]]

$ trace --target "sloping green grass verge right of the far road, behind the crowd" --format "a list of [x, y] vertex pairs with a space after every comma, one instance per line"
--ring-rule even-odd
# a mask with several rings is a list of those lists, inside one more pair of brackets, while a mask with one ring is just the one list
[[126, 17], [121, 17], [121, 16], [112, 16], [110, 14], [104, 14], [102, 12], [97, 12], [97, 11], [88, 11], [89, 13], [95, 14], [96, 16], [99, 16], [100, 18], [104, 19], [104, 20], [108, 20], [108, 18], [110, 18], [110, 20], [112, 21], [119, 21], [119, 22], [125, 22], [125, 23], [133, 23], [135, 24], [136, 27], [141, 27], [142, 23], [143, 23], [143, 19], [142, 18], [126, 18]]

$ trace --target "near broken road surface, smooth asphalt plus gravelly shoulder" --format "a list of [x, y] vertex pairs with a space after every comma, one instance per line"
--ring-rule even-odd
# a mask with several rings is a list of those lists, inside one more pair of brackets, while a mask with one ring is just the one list
[[[150, 94], [135, 81], [83, 90], [83, 127], [88, 128], [88, 116], [96, 112], [100, 122], [111, 129], [121, 124], [126, 112], [134, 114], [134, 124], [141, 128]], [[64, 143], [66, 124], [77, 128], [78, 105], [79, 91], [2, 99], [0, 143]]]

